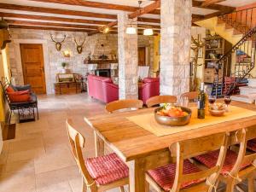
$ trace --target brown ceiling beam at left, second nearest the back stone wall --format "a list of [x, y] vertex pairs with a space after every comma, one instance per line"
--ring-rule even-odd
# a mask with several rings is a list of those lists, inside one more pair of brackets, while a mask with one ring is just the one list
[[61, 21], [61, 22], [75, 22], [75, 23], [84, 23], [84, 24], [94, 24], [94, 25], [107, 25], [109, 21], [103, 20], [84, 20], [84, 19], [73, 19], [65, 17], [52, 17], [44, 15], [25, 15], [25, 14], [13, 14], [13, 13], [3, 13], [0, 12], [0, 17], [10, 17], [10, 18], [20, 18], [20, 19], [29, 19], [29, 20], [52, 20], [52, 21]]

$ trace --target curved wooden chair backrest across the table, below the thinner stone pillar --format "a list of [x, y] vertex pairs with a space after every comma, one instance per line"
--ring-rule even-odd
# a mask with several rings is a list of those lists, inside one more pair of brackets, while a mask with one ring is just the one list
[[114, 102], [109, 102], [106, 105], [106, 110], [109, 113], [113, 113], [114, 111], [118, 111], [121, 109], [138, 109], [143, 108], [143, 101], [137, 99], [125, 99]]

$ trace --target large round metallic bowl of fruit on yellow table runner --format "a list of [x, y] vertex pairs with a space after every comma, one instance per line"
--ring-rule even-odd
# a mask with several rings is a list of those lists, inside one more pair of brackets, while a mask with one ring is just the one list
[[189, 124], [191, 109], [165, 104], [154, 109], [154, 119], [161, 125], [183, 126]]

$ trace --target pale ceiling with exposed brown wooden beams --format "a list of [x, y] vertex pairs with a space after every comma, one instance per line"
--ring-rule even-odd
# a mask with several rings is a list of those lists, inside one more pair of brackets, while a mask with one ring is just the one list
[[[2, 0], [0, 17], [7, 20], [9, 28], [88, 32], [91, 35], [102, 32], [107, 26], [110, 32], [116, 33], [117, 13], [126, 11], [130, 19], [137, 18], [139, 33], [148, 26], [159, 33], [160, 0], [144, 1], [140, 9], [134, 6], [134, 2], [137, 4], [137, 0], [127, 0], [127, 3], [102, 3], [98, 0]], [[224, 0], [193, 0], [192, 24], [197, 20], [235, 10], [218, 4], [221, 2]]]

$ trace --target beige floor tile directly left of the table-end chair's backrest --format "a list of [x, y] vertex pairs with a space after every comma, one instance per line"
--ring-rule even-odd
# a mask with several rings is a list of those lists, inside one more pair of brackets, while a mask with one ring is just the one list
[[36, 174], [74, 166], [75, 161], [69, 149], [53, 150], [35, 160]]

